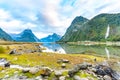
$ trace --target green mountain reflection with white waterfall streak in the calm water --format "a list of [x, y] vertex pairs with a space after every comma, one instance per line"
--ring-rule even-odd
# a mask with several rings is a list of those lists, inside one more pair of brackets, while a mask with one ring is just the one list
[[84, 45], [70, 45], [70, 44], [60, 44], [66, 53], [91, 53], [97, 55], [106, 55], [109, 59], [110, 57], [120, 58], [120, 47], [108, 47], [108, 46], [84, 46]]

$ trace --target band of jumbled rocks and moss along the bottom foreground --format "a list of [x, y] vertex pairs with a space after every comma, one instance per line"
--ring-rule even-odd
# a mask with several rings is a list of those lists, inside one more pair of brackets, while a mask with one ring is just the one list
[[[45, 66], [13, 67], [9, 61], [2, 58], [0, 59], [1, 67], [17, 68], [21, 71], [21, 74], [15, 71], [12, 76], [6, 74], [0, 80], [120, 80], [120, 74], [106, 64], [83, 62], [76, 64], [71, 69], [66, 69], [66, 64], [69, 63], [69, 60], [59, 59], [56, 63], [62, 63], [60, 70], [51, 69]], [[24, 74], [38, 74], [39, 76], [30, 78]]]

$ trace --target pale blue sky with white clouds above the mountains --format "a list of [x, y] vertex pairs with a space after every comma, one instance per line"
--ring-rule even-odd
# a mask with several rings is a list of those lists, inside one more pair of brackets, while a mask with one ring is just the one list
[[76, 16], [119, 12], [120, 0], [0, 0], [0, 27], [8, 33], [30, 28], [42, 38], [63, 35]]

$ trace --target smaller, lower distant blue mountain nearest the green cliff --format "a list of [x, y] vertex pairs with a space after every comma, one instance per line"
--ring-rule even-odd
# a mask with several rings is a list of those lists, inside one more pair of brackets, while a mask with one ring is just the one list
[[41, 42], [56, 42], [59, 41], [61, 39], [61, 36], [53, 33], [52, 35], [48, 35], [45, 38], [40, 39]]

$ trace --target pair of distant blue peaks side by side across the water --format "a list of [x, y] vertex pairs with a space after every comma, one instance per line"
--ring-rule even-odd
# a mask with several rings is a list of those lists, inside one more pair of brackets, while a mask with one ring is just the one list
[[53, 33], [52, 35], [48, 35], [45, 38], [38, 39], [32, 30], [25, 29], [20, 34], [10, 34], [12, 38], [17, 42], [55, 42], [61, 39], [60, 35]]

